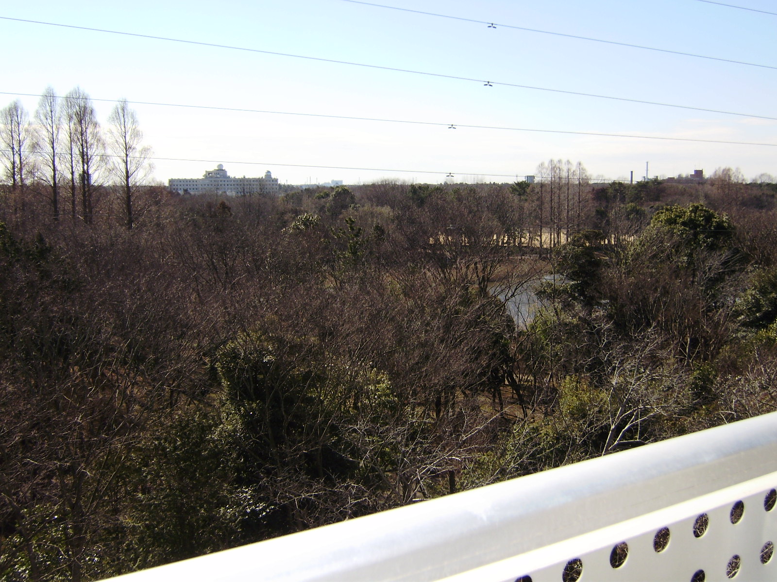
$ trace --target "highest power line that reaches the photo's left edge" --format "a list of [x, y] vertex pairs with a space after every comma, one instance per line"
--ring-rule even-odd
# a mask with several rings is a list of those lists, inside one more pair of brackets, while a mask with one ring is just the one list
[[[335, 63], [335, 64], [348, 64], [354, 67], [364, 67], [364, 68], [372, 68], [372, 69], [379, 69], [382, 71], [395, 71], [399, 73], [410, 73], [410, 74], [423, 74], [427, 77], [436, 77], [436, 78], [448, 78], [448, 79], [455, 79], [457, 81], [475, 81], [478, 83], [483, 83], [485, 79], [483, 78], [471, 78], [471, 77], [460, 77], [458, 75], [453, 74], [442, 74], [442, 73], [430, 73], [428, 71], [413, 71], [412, 69], [402, 69], [402, 68], [395, 68], [395, 67], [385, 67], [378, 64], [367, 64], [367, 63], [355, 63], [352, 61], [338, 61], [336, 59], [326, 59], [322, 57], [309, 57], [307, 55], [301, 55], [301, 54], [289, 54], [289, 53], [278, 53], [271, 50], [260, 50], [260, 49], [253, 49], [253, 48], [247, 48], [247, 47], [233, 47], [226, 44], [216, 44], [216, 43], [206, 43], [200, 40], [184, 40], [184, 39], [176, 39], [171, 38], [169, 36], [153, 36], [150, 34], [140, 34], [140, 33], [126, 33], [119, 30], [109, 30], [109, 29], [98, 29], [98, 28], [91, 28], [89, 26], [75, 26], [72, 24], [60, 24], [60, 23], [46, 23], [40, 20], [28, 20], [28, 19], [19, 19], [19, 18], [11, 18], [9, 16], [0, 16], [0, 19], [3, 20], [12, 20], [14, 22], [19, 23], [31, 23], [31, 24], [43, 24], [46, 26], [60, 26], [62, 28], [71, 28], [71, 29], [78, 29], [78, 30], [89, 30], [92, 32], [97, 33], [109, 33], [109, 34], [120, 34], [123, 36], [135, 36], [138, 38], [148, 38], [153, 40], [167, 40], [169, 42], [174, 43], [186, 43], [186, 44], [196, 44], [203, 47], [215, 47], [215, 48], [224, 48], [228, 50], [243, 50], [250, 53], [260, 53], [260, 54], [272, 54], [279, 57], [293, 57], [293, 58], [300, 58], [300, 59], [307, 59], [308, 61], [319, 61], [319, 62], [325, 62], [325, 63]], [[762, 115], [754, 115], [751, 113], [736, 113], [732, 111], [723, 111], [721, 109], [706, 109], [703, 107], [693, 107], [693, 106], [685, 106], [685, 105], [676, 105], [673, 103], [662, 103], [662, 102], [656, 102], [656, 101], [645, 101], [643, 99], [629, 99], [627, 97], [613, 97], [611, 95], [597, 95], [595, 93], [584, 93], [579, 91], [566, 91], [564, 89], [554, 89], [554, 88], [548, 88], [548, 87], [535, 87], [532, 85], [518, 85], [517, 83], [507, 83], [504, 81], [486, 81], [484, 85], [487, 85], [489, 87], [493, 86], [502, 86], [502, 87], [511, 87], [511, 88], [521, 88], [521, 89], [531, 89], [532, 91], [545, 91], [545, 92], [552, 92], [552, 93], [562, 93], [564, 95], [577, 95], [581, 97], [593, 97], [595, 99], [610, 99], [612, 101], [624, 101], [624, 102], [630, 102], [630, 103], [639, 103], [642, 105], [653, 105], [653, 106], [660, 106], [660, 107], [672, 107], [674, 109], [690, 109], [692, 111], [703, 111], [706, 113], [721, 113], [723, 115], [733, 115], [733, 116], [740, 116], [740, 117], [753, 117], [756, 119], [761, 120], [772, 120], [777, 121], [777, 117], [769, 117], [769, 116], [762, 116]]]

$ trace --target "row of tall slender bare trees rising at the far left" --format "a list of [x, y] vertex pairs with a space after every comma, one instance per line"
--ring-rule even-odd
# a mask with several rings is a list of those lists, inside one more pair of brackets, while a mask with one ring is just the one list
[[79, 87], [64, 96], [47, 87], [31, 118], [19, 99], [0, 111], [0, 160], [14, 213], [24, 213], [33, 192], [47, 199], [53, 220], [69, 214], [92, 223], [99, 191], [111, 185], [132, 228], [133, 197], [152, 171], [150, 155], [127, 99], [113, 107], [105, 128]]

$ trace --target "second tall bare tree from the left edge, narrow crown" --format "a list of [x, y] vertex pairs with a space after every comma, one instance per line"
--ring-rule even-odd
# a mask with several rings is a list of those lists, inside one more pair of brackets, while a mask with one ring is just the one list
[[54, 220], [59, 220], [59, 181], [61, 169], [58, 162], [61, 157], [62, 115], [54, 88], [47, 87], [38, 102], [35, 111], [37, 122], [37, 154], [40, 159], [41, 177], [51, 188], [51, 211]]

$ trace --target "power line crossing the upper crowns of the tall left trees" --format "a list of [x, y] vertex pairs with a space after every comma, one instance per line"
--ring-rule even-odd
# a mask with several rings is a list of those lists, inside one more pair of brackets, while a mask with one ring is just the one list
[[[15, 93], [0, 91], [0, 95], [23, 95], [26, 97], [43, 97], [43, 95], [37, 95], [35, 93]], [[69, 99], [67, 95], [57, 96], [57, 99]], [[115, 102], [115, 99], [97, 99], [90, 97], [92, 101], [99, 102]], [[441, 123], [434, 121], [414, 121], [414, 120], [392, 120], [383, 119], [378, 117], [355, 117], [355, 116], [343, 116], [343, 115], [327, 115], [325, 113], [297, 113], [291, 111], [269, 111], [265, 109], [243, 109], [239, 107], [218, 107], [218, 106], [205, 106], [205, 105], [186, 105], [183, 103], [162, 103], [152, 101], [132, 101], [127, 100], [128, 103], [134, 105], [150, 105], [150, 106], [162, 106], [162, 107], [181, 107], [186, 109], [209, 109], [214, 111], [233, 111], [238, 113], [267, 113], [270, 115], [289, 115], [289, 116], [302, 116], [302, 117], [322, 117], [333, 120], [356, 120], [356, 121], [375, 121], [382, 123], [406, 123], [410, 125], [427, 125], [437, 127], [447, 127], [448, 129], [457, 129], [458, 127], [477, 129], [477, 130], [504, 130], [504, 131], [526, 131], [531, 133], [562, 133], [568, 135], [585, 135], [594, 137], [623, 137], [636, 140], [667, 140], [667, 141], [689, 141], [701, 144], [728, 144], [728, 145], [750, 145], [750, 146], [768, 146], [777, 147], [777, 144], [766, 144], [763, 142], [751, 142], [751, 141], [730, 141], [730, 140], [701, 140], [691, 137], [664, 137], [664, 136], [644, 136], [644, 135], [630, 135], [625, 133], [601, 133], [594, 131], [571, 131], [571, 130], [538, 130], [529, 127], [505, 127], [505, 126], [486, 126], [486, 125], [472, 125], [467, 123]]]

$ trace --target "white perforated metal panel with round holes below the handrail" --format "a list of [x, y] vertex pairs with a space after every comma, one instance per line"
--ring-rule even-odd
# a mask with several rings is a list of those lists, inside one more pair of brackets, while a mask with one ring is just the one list
[[772, 483], [777, 473], [445, 580], [777, 580]]

